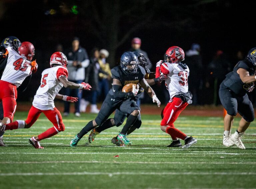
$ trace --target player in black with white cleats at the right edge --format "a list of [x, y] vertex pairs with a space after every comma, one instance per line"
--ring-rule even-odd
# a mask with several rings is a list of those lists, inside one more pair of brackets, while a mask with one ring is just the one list
[[[234, 144], [245, 149], [242, 135], [254, 120], [254, 110], [247, 92], [251, 92], [256, 81], [256, 48], [249, 51], [245, 60], [239, 61], [233, 71], [226, 75], [220, 84], [219, 96], [227, 115], [224, 118], [223, 145], [230, 147]], [[242, 116], [236, 132], [230, 135], [237, 112]]]

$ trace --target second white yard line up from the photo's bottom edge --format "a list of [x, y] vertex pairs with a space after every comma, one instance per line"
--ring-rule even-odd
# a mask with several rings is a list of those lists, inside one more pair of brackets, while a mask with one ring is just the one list
[[37, 163], [118, 163], [118, 164], [256, 164], [256, 162], [140, 162], [140, 161], [3, 161], [0, 164], [37, 164]]

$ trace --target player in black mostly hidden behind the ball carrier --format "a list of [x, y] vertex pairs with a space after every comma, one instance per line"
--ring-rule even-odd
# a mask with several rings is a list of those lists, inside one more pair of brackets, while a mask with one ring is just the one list
[[[155, 78], [155, 73], [150, 72], [150, 70], [148, 68], [146, 68], [146, 66], [150, 64], [148, 58], [145, 58], [144, 55], [141, 53], [138, 53], [138, 52], [133, 52], [133, 53], [138, 57], [139, 65], [144, 68], [144, 70], [146, 72], [145, 79], [150, 86], [154, 85], [158, 82], [162, 82], [167, 78], [167, 75], [161, 75], [160, 77]], [[138, 91], [137, 95], [135, 96], [136, 103], [137, 103], [137, 100], [140, 98], [140, 96], [143, 94], [143, 92], [144, 92], [144, 89], [140, 86], [139, 91]], [[92, 131], [89, 135], [89, 143], [92, 143], [94, 141], [96, 135], [100, 134], [102, 131], [109, 129], [113, 126], [118, 127], [118, 126], [122, 125], [127, 116], [129, 116], [129, 115], [116, 109], [114, 118], [109, 118], [99, 127], [92, 129]], [[139, 115], [138, 119], [127, 131], [127, 135], [131, 134], [135, 129], [139, 129], [140, 126], [141, 126], [141, 117]], [[117, 139], [117, 137], [118, 137], [118, 135], [116, 137], [112, 138], [111, 142], [113, 144], [116, 144], [117, 146], [122, 146], [123, 143], [120, 143], [120, 141]]]

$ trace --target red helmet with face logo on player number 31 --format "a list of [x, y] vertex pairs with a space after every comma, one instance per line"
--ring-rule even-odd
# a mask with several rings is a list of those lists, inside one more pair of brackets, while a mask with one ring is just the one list
[[183, 49], [178, 46], [169, 47], [164, 55], [164, 60], [170, 63], [178, 63], [183, 61], [184, 59], [185, 53]]

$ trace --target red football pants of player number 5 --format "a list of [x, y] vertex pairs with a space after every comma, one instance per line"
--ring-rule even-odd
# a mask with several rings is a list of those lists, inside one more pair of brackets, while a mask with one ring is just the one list
[[65, 130], [65, 125], [62, 122], [62, 116], [57, 108], [53, 108], [52, 110], [39, 110], [32, 106], [28, 112], [28, 117], [25, 121], [26, 124], [31, 127], [42, 112], [52, 122], [57, 132]]

